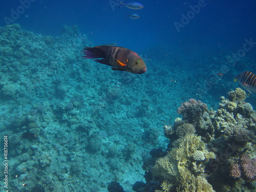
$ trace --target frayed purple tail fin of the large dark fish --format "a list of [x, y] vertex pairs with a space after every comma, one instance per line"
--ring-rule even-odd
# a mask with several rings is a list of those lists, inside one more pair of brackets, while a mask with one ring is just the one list
[[98, 47], [83, 47], [81, 50], [81, 57], [84, 59], [96, 59], [96, 58], [104, 58], [105, 49], [102, 49], [104, 46]]

